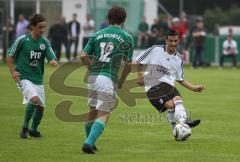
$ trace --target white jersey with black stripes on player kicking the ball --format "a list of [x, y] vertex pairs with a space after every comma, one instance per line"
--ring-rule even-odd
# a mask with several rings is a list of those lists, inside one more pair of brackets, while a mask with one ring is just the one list
[[152, 46], [140, 54], [136, 62], [147, 65], [144, 73], [146, 91], [161, 82], [174, 86], [175, 80], [184, 80], [181, 55], [178, 52], [172, 55], [167, 53], [165, 46]]

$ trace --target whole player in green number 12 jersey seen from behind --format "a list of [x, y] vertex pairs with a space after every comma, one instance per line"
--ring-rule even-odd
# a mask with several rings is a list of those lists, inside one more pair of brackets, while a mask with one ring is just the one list
[[[126, 11], [114, 6], [108, 11], [110, 26], [94, 33], [84, 48], [81, 59], [89, 69], [88, 120], [85, 122], [87, 138], [82, 146], [85, 153], [94, 154], [95, 142], [101, 136], [115, 105], [117, 88], [122, 88], [131, 71], [133, 38], [122, 29]], [[122, 61], [123, 71], [118, 79]]]

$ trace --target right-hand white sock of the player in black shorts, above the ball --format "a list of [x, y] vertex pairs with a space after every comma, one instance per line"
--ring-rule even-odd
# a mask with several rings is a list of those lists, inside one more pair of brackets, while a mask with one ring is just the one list
[[178, 123], [184, 123], [187, 119], [187, 113], [183, 106], [183, 101], [177, 100], [174, 102], [174, 105], [175, 105], [175, 114], [174, 114], [175, 121]]

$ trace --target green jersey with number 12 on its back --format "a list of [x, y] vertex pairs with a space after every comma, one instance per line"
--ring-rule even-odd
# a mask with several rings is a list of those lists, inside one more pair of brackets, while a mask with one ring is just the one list
[[84, 52], [93, 59], [90, 75], [104, 75], [118, 81], [122, 60], [132, 61], [133, 38], [117, 26], [109, 26], [93, 34]]

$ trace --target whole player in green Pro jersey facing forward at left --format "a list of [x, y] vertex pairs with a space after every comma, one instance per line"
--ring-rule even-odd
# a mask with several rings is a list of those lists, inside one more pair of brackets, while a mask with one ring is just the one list
[[[27, 138], [28, 134], [36, 138], [41, 137], [37, 128], [43, 116], [45, 103], [43, 87], [45, 57], [50, 65], [58, 65], [49, 41], [43, 37], [46, 25], [45, 17], [34, 14], [30, 18], [31, 32], [18, 37], [8, 49], [7, 64], [26, 104], [21, 138]], [[29, 130], [31, 118], [32, 127]]]

